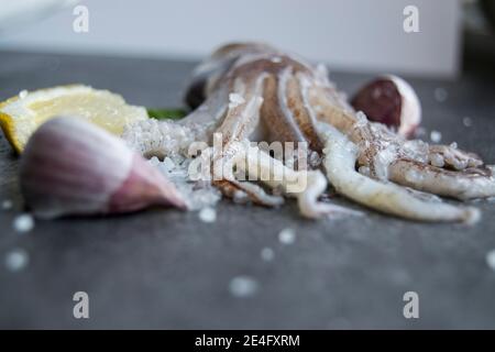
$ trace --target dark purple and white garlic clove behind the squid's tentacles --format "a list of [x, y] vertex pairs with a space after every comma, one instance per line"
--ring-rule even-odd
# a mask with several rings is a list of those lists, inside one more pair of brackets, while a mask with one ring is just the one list
[[380, 77], [361, 88], [351, 100], [370, 121], [381, 122], [405, 138], [414, 136], [421, 122], [421, 105], [413, 87], [400, 77]]

